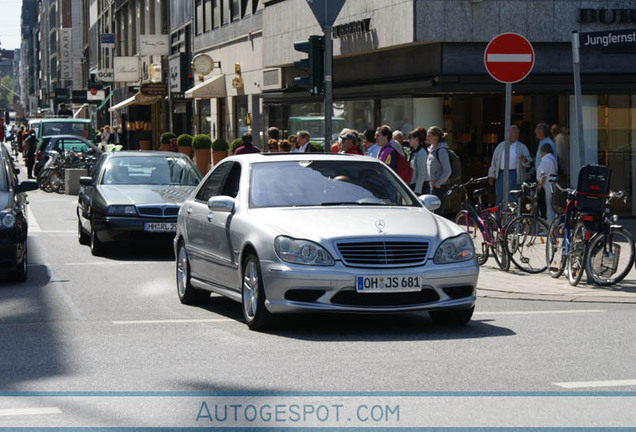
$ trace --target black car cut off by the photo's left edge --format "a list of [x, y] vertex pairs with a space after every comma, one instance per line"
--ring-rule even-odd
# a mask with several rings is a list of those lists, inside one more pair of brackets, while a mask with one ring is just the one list
[[27, 278], [26, 194], [35, 181], [18, 180], [16, 168], [5, 146], [0, 146], [0, 269], [19, 282]]

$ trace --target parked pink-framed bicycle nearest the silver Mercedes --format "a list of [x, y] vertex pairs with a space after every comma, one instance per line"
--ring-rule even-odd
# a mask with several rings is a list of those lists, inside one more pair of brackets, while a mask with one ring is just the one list
[[475, 256], [477, 264], [483, 265], [489, 254], [492, 252], [495, 261], [500, 269], [508, 271], [510, 268], [510, 260], [503, 244], [503, 232], [494, 217], [499, 211], [498, 207], [487, 208], [482, 202], [482, 198], [486, 195], [486, 188], [476, 189], [473, 191], [473, 197], [477, 199], [478, 204], [474, 206], [468, 196], [468, 187], [484, 183], [488, 181], [488, 177], [470, 179], [461, 185], [454, 185], [446, 193], [446, 197], [450, 197], [454, 192], [461, 191], [463, 194], [462, 208], [457, 216], [455, 223], [459, 225], [473, 240], [475, 246]]

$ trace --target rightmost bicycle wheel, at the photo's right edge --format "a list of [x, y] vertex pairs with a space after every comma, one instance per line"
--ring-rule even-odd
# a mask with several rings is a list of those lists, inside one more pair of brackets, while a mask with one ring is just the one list
[[585, 253], [585, 270], [596, 285], [622, 281], [634, 263], [634, 239], [624, 228], [612, 227], [608, 235], [596, 234]]

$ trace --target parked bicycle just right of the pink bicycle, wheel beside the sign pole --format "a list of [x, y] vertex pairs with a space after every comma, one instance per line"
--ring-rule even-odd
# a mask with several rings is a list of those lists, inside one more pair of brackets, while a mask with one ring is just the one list
[[[541, 273], [547, 268], [545, 243], [548, 224], [539, 215], [537, 183], [523, 183], [520, 191], [511, 191], [517, 198], [519, 215], [505, 227], [504, 245], [510, 261], [526, 273]], [[530, 203], [523, 205], [524, 198]], [[524, 212], [524, 210], [527, 210]]]

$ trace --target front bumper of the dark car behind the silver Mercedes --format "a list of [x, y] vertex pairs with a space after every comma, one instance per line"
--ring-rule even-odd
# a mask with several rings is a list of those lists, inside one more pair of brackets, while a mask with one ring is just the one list
[[[147, 231], [148, 223], [173, 224], [175, 231]], [[102, 242], [129, 241], [135, 236], [148, 238], [174, 238], [177, 218], [140, 218], [106, 216], [93, 219], [93, 229]]]

